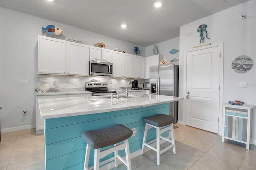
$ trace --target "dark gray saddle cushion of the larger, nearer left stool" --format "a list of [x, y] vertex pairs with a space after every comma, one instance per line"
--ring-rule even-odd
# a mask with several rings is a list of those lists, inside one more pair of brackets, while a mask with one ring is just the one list
[[98, 130], [84, 131], [82, 137], [93, 149], [104, 148], [122, 142], [132, 136], [132, 130], [121, 124], [116, 124]]

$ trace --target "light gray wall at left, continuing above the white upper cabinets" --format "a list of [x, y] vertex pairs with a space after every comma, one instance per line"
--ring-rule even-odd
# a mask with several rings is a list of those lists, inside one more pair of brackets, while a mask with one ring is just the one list
[[[117, 47], [131, 54], [135, 54], [133, 48], [138, 46], [6, 8], [0, 8], [0, 25], [1, 128], [8, 130], [35, 127], [36, 124], [37, 42], [38, 35], [46, 35], [42, 27], [59, 26], [63, 33], [55, 36], [58, 39], [80, 40], [87, 45], [103, 42], [106, 49]], [[140, 55], [145, 56], [145, 47], [139, 47]], [[29, 84], [21, 85], [22, 79], [28, 79]], [[28, 110], [25, 117], [23, 109]]]

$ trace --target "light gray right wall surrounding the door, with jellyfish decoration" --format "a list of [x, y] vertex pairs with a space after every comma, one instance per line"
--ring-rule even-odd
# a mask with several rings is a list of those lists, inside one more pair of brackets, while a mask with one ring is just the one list
[[[201, 24], [207, 25], [210, 40], [205, 43], [224, 43], [224, 80], [223, 103], [240, 100], [246, 104], [256, 105], [256, 1], [243, 4], [207, 16], [195, 22], [180, 27], [180, 86], [179, 95], [184, 97], [185, 75], [184, 51], [199, 45], [199, 33], [196, 32]], [[240, 19], [242, 14], [246, 19]], [[247, 73], [236, 73], [231, 68], [232, 61], [240, 56], [248, 55], [254, 65]], [[247, 88], [239, 88], [239, 81], [247, 81]], [[179, 121], [185, 122], [184, 100], [179, 102]], [[256, 111], [252, 117], [252, 140], [256, 144]]]

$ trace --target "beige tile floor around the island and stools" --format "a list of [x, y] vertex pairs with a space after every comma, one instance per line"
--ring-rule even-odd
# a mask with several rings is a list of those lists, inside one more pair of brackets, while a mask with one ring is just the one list
[[[176, 155], [172, 149], [161, 155], [156, 165], [152, 150], [132, 159], [133, 170], [256, 170], [256, 145], [226, 140], [218, 134], [176, 124]], [[44, 170], [44, 135], [36, 129], [2, 133], [0, 170]], [[166, 143], [162, 144], [164, 147]], [[123, 164], [113, 170], [126, 170]]]

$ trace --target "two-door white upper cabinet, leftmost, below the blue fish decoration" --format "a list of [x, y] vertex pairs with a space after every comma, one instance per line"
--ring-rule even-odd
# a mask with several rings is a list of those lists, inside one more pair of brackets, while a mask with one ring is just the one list
[[38, 36], [38, 74], [89, 75], [89, 46]]

